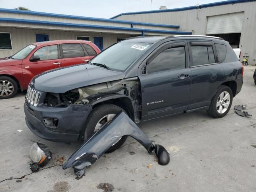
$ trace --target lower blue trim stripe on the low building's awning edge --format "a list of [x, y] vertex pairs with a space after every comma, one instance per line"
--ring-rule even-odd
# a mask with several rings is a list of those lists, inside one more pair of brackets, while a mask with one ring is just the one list
[[144, 31], [144, 32], [154, 32], [154, 33], [166, 33], [166, 34], [192, 34], [192, 32], [182, 32], [182, 31], [140, 29], [140, 28], [114, 27], [114, 26], [102, 26], [102, 25], [87, 25], [87, 24], [38, 21], [38, 20], [16, 19], [16, 18], [0, 18], [0, 21], [3, 21], [3, 22], [18, 22], [18, 23], [27, 23], [27, 24], [56, 25], [56, 26], [67, 26], [67, 27], [110, 29], [110, 30], [127, 30], [127, 31], [139, 31], [139, 32]]

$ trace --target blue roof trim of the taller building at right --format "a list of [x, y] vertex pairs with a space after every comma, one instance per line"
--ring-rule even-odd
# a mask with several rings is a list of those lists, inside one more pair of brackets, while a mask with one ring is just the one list
[[140, 11], [140, 12], [128, 12], [128, 13], [121, 13], [118, 14], [110, 19], [117, 18], [121, 15], [133, 15], [133, 14], [146, 14], [146, 13], [162, 13], [162, 12], [174, 12], [174, 11], [185, 11], [185, 10], [191, 10], [191, 9], [197, 9], [197, 8], [206, 8], [206, 7], [213, 7], [213, 6], [219, 6], [219, 5], [227, 5], [227, 4], [236, 4], [236, 3], [244, 3], [244, 2], [251, 2], [256, 0], [228, 0], [228, 1], [221, 1], [221, 2], [214, 2], [214, 3], [208, 3], [208, 4], [202, 4], [197, 6], [190, 6], [190, 7], [183, 7], [183, 8], [174, 8], [174, 9], [163, 9], [163, 10], [152, 10], [152, 11]]

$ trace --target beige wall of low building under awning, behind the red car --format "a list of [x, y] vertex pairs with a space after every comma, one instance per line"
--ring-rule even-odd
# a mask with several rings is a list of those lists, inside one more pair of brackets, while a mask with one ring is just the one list
[[76, 39], [76, 36], [89, 36], [93, 42], [93, 37], [103, 37], [104, 49], [117, 42], [117, 38], [129, 38], [131, 35], [124, 34], [106, 34], [106, 33], [88, 33], [72, 31], [54, 31], [54, 30], [37, 30], [22, 28], [4, 28], [0, 27], [0, 32], [10, 32], [12, 40], [12, 50], [1, 50], [0, 58], [11, 56], [24, 48], [28, 44], [36, 42], [36, 34], [49, 34], [49, 40]]

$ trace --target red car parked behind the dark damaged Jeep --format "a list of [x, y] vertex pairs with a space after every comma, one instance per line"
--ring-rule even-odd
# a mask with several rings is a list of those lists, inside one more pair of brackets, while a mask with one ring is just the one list
[[100, 53], [90, 41], [55, 40], [30, 44], [16, 54], [0, 59], [0, 99], [26, 90], [30, 80], [44, 71], [87, 63]]

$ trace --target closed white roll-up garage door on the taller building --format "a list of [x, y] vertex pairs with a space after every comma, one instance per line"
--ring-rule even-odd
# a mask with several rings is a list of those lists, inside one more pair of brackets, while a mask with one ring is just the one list
[[207, 20], [206, 34], [241, 33], [244, 12], [210, 16]]

